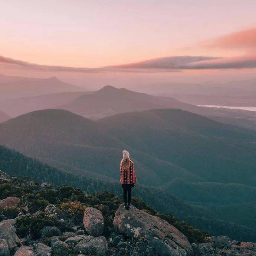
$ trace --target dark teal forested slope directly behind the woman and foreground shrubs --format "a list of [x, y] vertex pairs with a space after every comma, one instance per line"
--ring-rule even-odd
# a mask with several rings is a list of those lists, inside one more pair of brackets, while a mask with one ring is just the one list
[[[99, 179], [90, 179], [85, 176], [78, 176], [58, 170], [2, 146], [0, 146], [0, 170], [9, 175], [16, 175], [18, 177], [25, 175], [35, 179], [39, 183], [47, 181], [59, 185], [68, 184], [81, 188], [87, 193], [108, 190], [117, 195], [121, 194], [121, 186], [119, 183], [104, 182]], [[5, 187], [0, 185], [0, 191], [2, 189], [5, 189]], [[13, 193], [15, 191], [14, 189]], [[207, 230], [210, 234], [225, 234], [234, 239], [255, 241], [255, 229], [237, 225], [230, 221], [213, 219], [209, 216], [207, 211], [190, 206], [164, 190], [137, 185], [134, 188], [133, 195], [137, 195], [150, 204], [151, 207], [163, 213], [170, 211], [180, 220], [188, 220], [197, 228], [203, 227], [203, 229]], [[13, 196], [15, 195], [13, 194]], [[186, 225], [186, 223], [184, 224]]]

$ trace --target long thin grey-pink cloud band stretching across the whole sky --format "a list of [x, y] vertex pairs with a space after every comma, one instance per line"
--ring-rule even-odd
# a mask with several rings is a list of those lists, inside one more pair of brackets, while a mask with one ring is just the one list
[[0, 56], [0, 63], [6, 65], [22, 66], [26, 69], [36, 69], [43, 71], [59, 72], [140, 72], [140, 73], [159, 73], [159, 72], [180, 72], [182, 70], [197, 69], [242, 69], [256, 68], [256, 55], [247, 55], [237, 58], [221, 58], [209, 56], [169, 56], [158, 59], [145, 60], [137, 63], [124, 65], [106, 66], [102, 68], [73, 68], [66, 66], [47, 66], [38, 65], [22, 60], [14, 60]]

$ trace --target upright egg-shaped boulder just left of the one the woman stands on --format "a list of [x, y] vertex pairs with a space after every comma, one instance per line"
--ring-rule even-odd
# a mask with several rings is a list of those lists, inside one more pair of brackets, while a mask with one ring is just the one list
[[83, 214], [85, 231], [92, 236], [100, 236], [104, 229], [104, 218], [101, 212], [93, 207], [87, 207]]

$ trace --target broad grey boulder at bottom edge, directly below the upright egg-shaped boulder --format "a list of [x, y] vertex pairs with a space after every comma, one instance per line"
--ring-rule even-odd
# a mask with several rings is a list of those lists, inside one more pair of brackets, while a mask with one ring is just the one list
[[105, 256], [108, 250], [108, 242], [104, 236], [86, 236], [74, 247], [74, 252], [84, 255]]

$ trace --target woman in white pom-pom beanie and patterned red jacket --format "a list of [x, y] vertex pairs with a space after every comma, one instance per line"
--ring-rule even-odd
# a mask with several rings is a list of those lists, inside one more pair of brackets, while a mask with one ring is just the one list
[[[129, 210], [131, 203], [131, 189], [134, 184], [138, 182], [134, 170], [134, 164], [130, 159], [130, 154], [128, 151], [123, 151], [123, 159], [120, 164], [122, 189], [124, 191], [124, 203], [125, 209]], [[128, 198], [127, 198], [128, 196]]]

